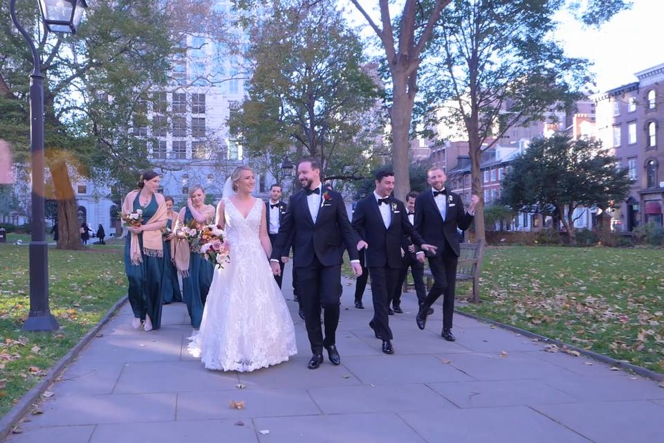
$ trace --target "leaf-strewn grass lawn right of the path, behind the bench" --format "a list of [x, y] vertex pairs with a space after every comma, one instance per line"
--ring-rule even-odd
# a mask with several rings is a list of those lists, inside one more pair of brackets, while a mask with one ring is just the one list
[[459, 309], [664, 372], [664, 249], [488, 248], [481, 300]]

